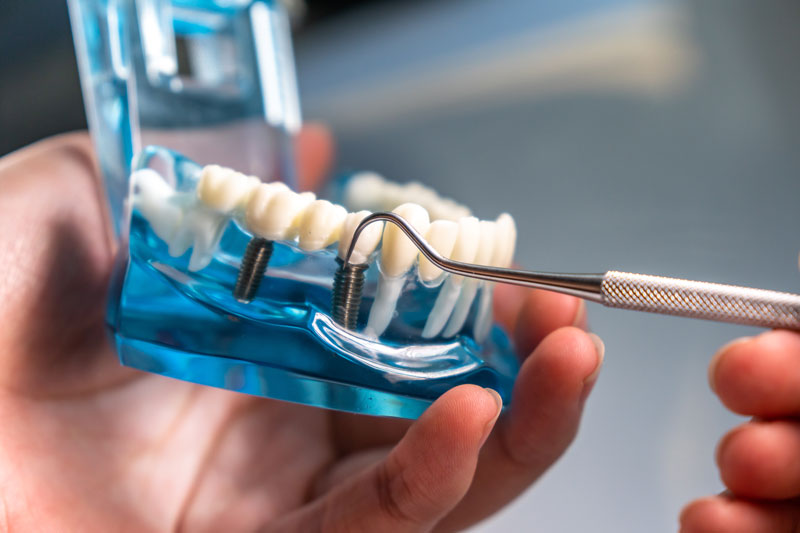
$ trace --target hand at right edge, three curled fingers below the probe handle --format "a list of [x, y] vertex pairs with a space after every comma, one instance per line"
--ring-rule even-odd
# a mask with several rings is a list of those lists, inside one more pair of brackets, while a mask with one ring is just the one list
[[800, 334], [770, 331], [724, 346], [709, 381], [722, 403], [753, 419], [717, 446], [728, 491], [689, 504], [681, 531], [800, 530]]

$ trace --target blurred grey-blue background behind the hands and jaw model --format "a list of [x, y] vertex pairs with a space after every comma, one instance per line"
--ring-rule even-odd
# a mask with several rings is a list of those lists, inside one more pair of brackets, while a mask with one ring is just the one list
[[[301, 6], [303, 7], [303, 6]], [[800, 290], [800, 4], [791, 0], [308, 1], [306, 119], [337, 168], [514, 214], [518, 260]], [[85, 128], [63, 0], [0, 4], [0, 155]], [[606, 341], [580, 434], [475, 531], [673, 531], [722, 490], [739, 422], [708, 389], [757, 330], [589, 309]]]

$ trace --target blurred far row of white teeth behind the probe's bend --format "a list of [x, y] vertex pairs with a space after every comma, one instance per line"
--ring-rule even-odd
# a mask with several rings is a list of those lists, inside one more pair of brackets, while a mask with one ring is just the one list
[[425, 208], [431, 220], [457, 221], [471, 215], [466, 206], [442, 198], [421, 183], [394, 183], [374, 172], [361, 172], [350, 178], [344, 196], [345, 204], [353, 210], [391, 211], [399, 205], [414, 202]]

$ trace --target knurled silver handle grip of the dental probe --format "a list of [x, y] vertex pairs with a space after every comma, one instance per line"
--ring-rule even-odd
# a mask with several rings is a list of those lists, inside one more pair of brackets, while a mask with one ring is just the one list
[[606, 272], [603, 304], [768, 328], [800, 329], [800, 296], [627, 272]]

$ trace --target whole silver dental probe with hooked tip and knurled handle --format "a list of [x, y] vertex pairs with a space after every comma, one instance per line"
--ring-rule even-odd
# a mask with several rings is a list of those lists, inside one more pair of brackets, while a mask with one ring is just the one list
[[361, 221], [353, 233], [344, 259], [345, 267], [361, 231], [379, 220], [398, 226], [431, 263], [451, 274], [546, 289], [606, 307], [800, 330], [800, 295], [797, 294], [615, 270], [603, 274], [565, 274], [461, 263], [442, 257], [413, 226], [394, 213], [373, 213]]

